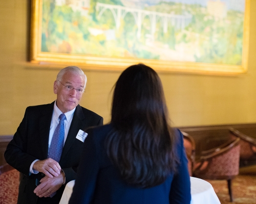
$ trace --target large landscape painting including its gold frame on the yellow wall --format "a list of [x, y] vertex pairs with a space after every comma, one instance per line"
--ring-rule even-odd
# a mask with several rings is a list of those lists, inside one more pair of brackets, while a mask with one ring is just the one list
[[32, 63], [237, 74], [249, 0], [32, 0]]

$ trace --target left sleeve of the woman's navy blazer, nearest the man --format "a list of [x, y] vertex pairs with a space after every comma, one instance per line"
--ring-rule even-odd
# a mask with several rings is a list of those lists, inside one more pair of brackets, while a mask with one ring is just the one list
[[97, 148], [93, 139], [93, 130], [88, 131], [88, 136], [84, 141], [81, 160], [77, 170], [77, 180], [73, 188], [73, 193], [69, 203], [91, 203], [99, 172], [99, 159]]

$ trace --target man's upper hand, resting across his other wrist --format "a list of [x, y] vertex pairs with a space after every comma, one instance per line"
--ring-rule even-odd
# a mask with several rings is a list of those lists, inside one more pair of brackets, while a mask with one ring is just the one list
[[58, 176], [61, 170], [59, 163], [51, 158], [35, 162], [33, 165], [33, 169], [44, 173], [49, 178], [52, 178], [53, 176]]

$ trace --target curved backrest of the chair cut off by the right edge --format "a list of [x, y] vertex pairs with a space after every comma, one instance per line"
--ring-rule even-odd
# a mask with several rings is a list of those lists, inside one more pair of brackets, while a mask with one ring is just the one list
[[253, 156], [256, 156], [256, 139], [251, 138], [233, 128], [230, 128], [229, 131], [230, 131], [230, 138], [241, 139], [239, 142], [241, 145], [241, 151], [240, 151], [241, 160], [249, 160]]

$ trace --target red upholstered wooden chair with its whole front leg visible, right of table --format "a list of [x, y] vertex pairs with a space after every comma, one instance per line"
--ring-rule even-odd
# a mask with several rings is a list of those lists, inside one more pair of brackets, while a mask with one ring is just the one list
[[230, 202], [233, 201], [232, 179], [239, 174], [240, 138], [201, 152], [194, 176], [204, 180], [227, 180]]

